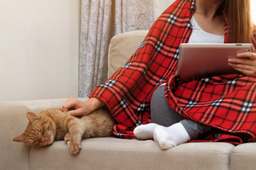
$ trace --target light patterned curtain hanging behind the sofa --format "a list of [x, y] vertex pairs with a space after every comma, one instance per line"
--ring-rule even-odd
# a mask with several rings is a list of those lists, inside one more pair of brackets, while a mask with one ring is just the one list
[[154, 23], [152, 0], [82, 0], [79, 97], [107, 80], [107, 53], [114, 35], [147, 30]]

